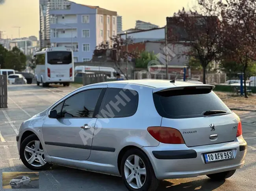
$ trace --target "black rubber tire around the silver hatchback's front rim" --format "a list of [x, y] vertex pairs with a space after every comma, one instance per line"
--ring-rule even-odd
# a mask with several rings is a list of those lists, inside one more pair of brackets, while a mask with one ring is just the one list
[[30, 135], [23, 140], [23, 142], [20, 144], [20, 159], [21, 159], [22, 163], [26, 167], [28, 167], [30, 170], [33, 170], [33, 171], [47, 170], [52, 166], [52, 164], [49, 164], [48, 162], [46, 162], [43, 166], [33, 166], [33, 165], [29, 164], [25, 158], [25, 155], [24, 155], [25, 147], [27, 146], [28, 143], [35, 141], [35, 140], [39, 140], [39, 138], [35, 134]]

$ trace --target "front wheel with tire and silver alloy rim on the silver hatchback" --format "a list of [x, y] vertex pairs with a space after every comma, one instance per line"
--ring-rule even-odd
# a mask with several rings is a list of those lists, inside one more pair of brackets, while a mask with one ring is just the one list
[[47, 170], [52, 166], [45, 161], [45, 151], [39, 138], [30, 135], [20, 145], [20, 159], [31, 170]]

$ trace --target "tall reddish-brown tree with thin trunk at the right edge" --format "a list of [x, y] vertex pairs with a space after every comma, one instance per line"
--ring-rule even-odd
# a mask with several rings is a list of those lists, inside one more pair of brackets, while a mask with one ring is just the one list
[[219, 1], [221, 9], [222, 37], [220, 47], [223, 55], [237, 62], [244, 76], [244, 93], [246, 91], [247, 69], [255, 60], [256, 53], [256, 2], [253, 0]]

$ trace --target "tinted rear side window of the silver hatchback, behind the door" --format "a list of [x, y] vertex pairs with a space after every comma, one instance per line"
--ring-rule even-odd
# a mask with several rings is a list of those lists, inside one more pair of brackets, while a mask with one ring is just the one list
[[139, 102], [137, 91], [107, 88], [98, 118], [129, 117], [136, 113]]

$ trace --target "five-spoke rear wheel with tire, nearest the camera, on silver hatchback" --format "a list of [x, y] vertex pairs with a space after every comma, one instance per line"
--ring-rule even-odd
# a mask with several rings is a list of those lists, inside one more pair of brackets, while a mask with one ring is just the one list
[[129, 191], [155, 191], [160, 183], [147, 155], [139, 149], [130, 149], [124, 154], [121, 175]]

